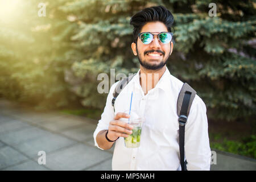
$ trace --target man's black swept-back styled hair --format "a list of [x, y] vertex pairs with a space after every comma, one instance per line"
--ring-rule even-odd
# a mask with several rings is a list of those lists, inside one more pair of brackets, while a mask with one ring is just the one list
[[166, 25], [167, 30], [171, 32], [174, 16], [163, 6], [152, 6], [139, 11], [131, 17], [130, 24], [133, 28], [134, 43], [137, 44], [138, 34], [142, 27], [148, 22], [162, 22]]

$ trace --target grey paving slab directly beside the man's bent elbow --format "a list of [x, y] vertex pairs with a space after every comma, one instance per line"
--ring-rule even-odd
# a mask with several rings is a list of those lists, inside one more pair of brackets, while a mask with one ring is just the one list
[[86, 139], [93, 137], [93, 132], [96, 129], [96, 126], [91, 124], [85, 124], [81, 127], [77, 127], [75, 129], [69, 129], [66, 131], [61, 132], [64, 135], [67, 135], [70, 138], [84, 141]]

